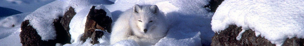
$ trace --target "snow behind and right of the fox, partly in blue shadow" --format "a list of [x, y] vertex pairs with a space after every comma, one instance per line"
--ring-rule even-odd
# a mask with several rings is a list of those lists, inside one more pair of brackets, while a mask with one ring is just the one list
[[[212, 13], [208, 12], [210, 9], [203, 7], [208, 4], [207, 2], [208, 1], [206, 0], [116, 0], [115, 4], [104, 6], [112, 13], [112, 19], [114, 20], [113, 22], [115, 22], [122, 12], [130, 9], [135, 4], [155, 4], [159, 7], [160, 11], [165, 13], [167, 20], [171, 24], [168, 34], [165, 36], [166, 38], [163, 38], [160, 41], [179, 41], [176, 43], [159, 42], [156, 44], [183, 45], [183, 43], [186, 42], [193, 42], [191, 44], [184, 45], [210, 45], [211, 38], [214, 33], [211, 31], [210, 24]], [[198, 32], [203, 35], [198, 35], [200, 37], [194, 37]], [[199, 38], [199, 40], [197, 40], [197, 38]]]

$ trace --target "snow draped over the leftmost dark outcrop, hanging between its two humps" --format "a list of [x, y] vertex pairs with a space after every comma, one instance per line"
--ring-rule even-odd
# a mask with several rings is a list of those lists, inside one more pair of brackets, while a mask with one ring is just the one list
[[60, 5], [66, 2], [54, 1], [56, 3], [50, 3], [44, 5], [33, 13], [26, 16], [24, 20], [29, 20], [30, 25], [37, 30], [37, 33], [44, 41], [56, 39], [56, 30], [54, 29], [53, 21], [58, 19], [59, 16], [64, 15], [64, 9], [67, 5]]

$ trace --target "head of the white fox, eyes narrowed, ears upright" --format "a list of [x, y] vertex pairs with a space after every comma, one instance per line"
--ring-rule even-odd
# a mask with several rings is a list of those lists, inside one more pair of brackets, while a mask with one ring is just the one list
[[149, 33], [157, 27], [157, 16], [159, 16], [159, 9], [156, 5], [134, 5], [132, 21], [137, 32]]

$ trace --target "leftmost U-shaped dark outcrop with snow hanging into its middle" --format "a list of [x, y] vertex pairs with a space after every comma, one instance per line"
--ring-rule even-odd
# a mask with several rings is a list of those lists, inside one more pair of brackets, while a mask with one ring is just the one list
[[76, 13], [74, 12], [74, 8], [70, 7], [70, 9], [64, 14], [65, 17], [59, 17], [58, 19], [54, 19], [53, 23], [57, 36], [56, 39], [48, 41], [41, 40], [41, 36], [39, 36], [36, 29], [34, 29], [32, 25], [29, 25], [30, 20], [22, 22], [22, 31], [19, 35], [22, 46], [55, 46], [56, 43], [71, 43], [71, 36], [67, 31], [69, 29], [69, 24], [67, 23], [70, 23], [71, 19], [75, 14]]

